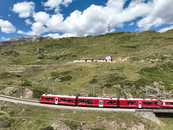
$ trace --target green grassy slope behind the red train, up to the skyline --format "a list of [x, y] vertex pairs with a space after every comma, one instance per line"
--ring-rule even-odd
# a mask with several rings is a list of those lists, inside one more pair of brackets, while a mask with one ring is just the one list
[[[107, 55], [115, 63], [73, 63]], [[35, 97], [42, 93], [166, 97], [173, 88], [172, 31], [19, 41], [1, 46], [0, 59], [0, 88], [29, 88]]]

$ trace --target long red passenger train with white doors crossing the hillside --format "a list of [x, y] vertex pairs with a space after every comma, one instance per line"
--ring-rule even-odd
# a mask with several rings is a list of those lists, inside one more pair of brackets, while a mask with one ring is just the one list
[[104, 98], [104, 97], [79, 97], [63, 95], [45, 95], [40, 97], [40, 103], [70, 105], [81, 107], [104, 108], [135, 108], [135, 109], [172, 109], [173, 100], [142, 99], [142, 98]]

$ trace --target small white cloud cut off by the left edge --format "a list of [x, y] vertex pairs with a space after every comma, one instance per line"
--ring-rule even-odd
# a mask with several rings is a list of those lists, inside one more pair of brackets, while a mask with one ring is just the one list
[[13, 33], [16, 28], [9, 21], [0, 19], [0, 30], [4, 33]]

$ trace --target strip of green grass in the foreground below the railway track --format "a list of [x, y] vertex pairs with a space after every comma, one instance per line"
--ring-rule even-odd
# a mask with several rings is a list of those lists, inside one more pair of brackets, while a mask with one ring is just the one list
[[[17, 104], [6, 104], [5, 107], [1, 108], [1, 111], [8, 113], [8, 117], [10, 117], [8, 128], [17, 130], [51, 129], [52, 124], [59, 122], [71, 130], [82, 129], [84, 125], [93, 130], [108, 130], [110, 122], [115, 122], [119, 128], [131, 128], [137, 123], [144, 124], [147, 130], [158, 128], [150, 121], [132, 113], [84, 113], [83, 111], [51, 110]], [[125, 126], [121, 127], [123, 123]], [[62, 124], [58, 125], [62, 126]]]

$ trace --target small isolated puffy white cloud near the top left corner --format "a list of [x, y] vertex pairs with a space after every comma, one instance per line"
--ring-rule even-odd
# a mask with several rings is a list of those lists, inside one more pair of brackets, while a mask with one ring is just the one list
[[19, 14], [21, 18], [27, 18], [32, 15], [34, 11], [33, 2], [20, 2], [13, 5], [12, 9], [15, 13]]

